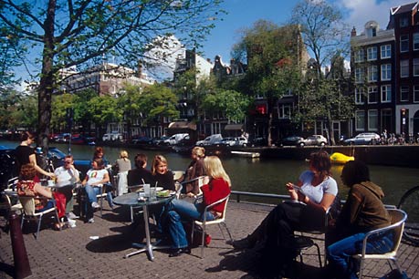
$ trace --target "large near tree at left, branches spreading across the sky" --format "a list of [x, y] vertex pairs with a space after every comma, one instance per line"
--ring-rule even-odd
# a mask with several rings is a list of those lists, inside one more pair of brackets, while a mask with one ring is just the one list
[[[2, 36], [31, 46], [40, 70], [38, 132], [47, 135], [52, 93], [59, 70], [98, 65], [102, 57], [118, 57], [124, 66], [137, 65], [152, 39], [175, 33], [183, 44], [199, 45], [221, 0], [0, 0]], [[162, 47], [162, 46], [159, 46]], [[44, 142], [42, 142], [44, 145]]]

